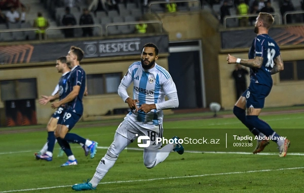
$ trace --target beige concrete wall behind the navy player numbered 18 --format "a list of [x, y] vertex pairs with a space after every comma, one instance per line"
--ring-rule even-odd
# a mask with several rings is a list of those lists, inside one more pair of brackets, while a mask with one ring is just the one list
[[[304, 60], [304, 49], [281, 50], [284, 61]], [[248, 58], [248, 52], [230, 53], [238, 58]], [[227, 54], [218, 55], [219, 77], [220, 77], [220, 95], [221, 105], [225, 109], [233, 109], [236, 102], [235, 84], [231, 73], [234, 65], [227, 65]], [[248, 69], [249, 70], [249, 69]], [[279, 74], [272, 76], [273, 88], [270, 95], [265, 100], [265, 107], [292, 106], [304, 103], [304, 81], [282, 81]], [[249, 76], [247, 77], [249, 84]]]

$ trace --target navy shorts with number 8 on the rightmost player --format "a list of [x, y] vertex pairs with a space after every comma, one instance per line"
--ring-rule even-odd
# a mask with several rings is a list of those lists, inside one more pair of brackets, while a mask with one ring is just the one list
[[253, 107], [255, 109], [264, 108], [265, 98], [269, 95], [271, 87], [250, 83], [249, 88], [242, 94], [242, 97], [246, 98], [246, 107]]

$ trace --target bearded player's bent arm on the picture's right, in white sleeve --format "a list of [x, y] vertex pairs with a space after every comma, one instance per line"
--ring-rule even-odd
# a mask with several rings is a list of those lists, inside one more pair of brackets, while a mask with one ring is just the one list
[[177, 108], [179, 105], [178, 96], [177, 96], [177, 90], [175, 83], [173, 82], [172, 78], [166, 80], [163, 85], [163, 90], [168, 97], [168, 101], [162, 102], [162, 103], [156, 103], [156, 104], [143, 104], [138, 109], [138, 111], [143, 111], [145, 113], [150, 112], [153, 109], [156, 110], [165, 110], [165, 109], [173, 109]]

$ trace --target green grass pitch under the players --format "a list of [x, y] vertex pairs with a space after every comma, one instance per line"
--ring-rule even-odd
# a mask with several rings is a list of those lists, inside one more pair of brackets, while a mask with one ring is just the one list
[[[92, 192], [303, 192], [304, 113], [260, 118], [291, 141], [286, 157], [278, 156], [274, 142], [263, 154], [254, 155], [255, 140], [234, 140], [234, 135], [251, 136], [236, 118], [166, 121], [165, 116], [165, 138], [218, 139], [219, 144], [185, 144], [183, 155], [172, 152], [153, 169], [143, 165], [142, 151], [124, 150]], [[33, 153], [46, 142], [46, 131], [0, 134], [0, 192], [73, 192], [71, 185], [93, 176], [118, 124], [74, 128], [73, 133], [97, 141], [101, 148], [90, 159], [79, 145], [72, 144], [79, 164], [64, 168], [60, 165], [67, 158], [57, 157], [57, 144], [52, 162], [34, 159]], [[251, 145], [237, 147], [236, 143]]]

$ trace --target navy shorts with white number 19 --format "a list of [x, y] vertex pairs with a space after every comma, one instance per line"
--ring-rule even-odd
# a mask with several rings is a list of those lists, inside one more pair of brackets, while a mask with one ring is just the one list
[[79, 121], [82, 115], [78, 115], [72, 111], [64, 109], [60, 114], [57, 124], [65, 125], [70, 131]]

